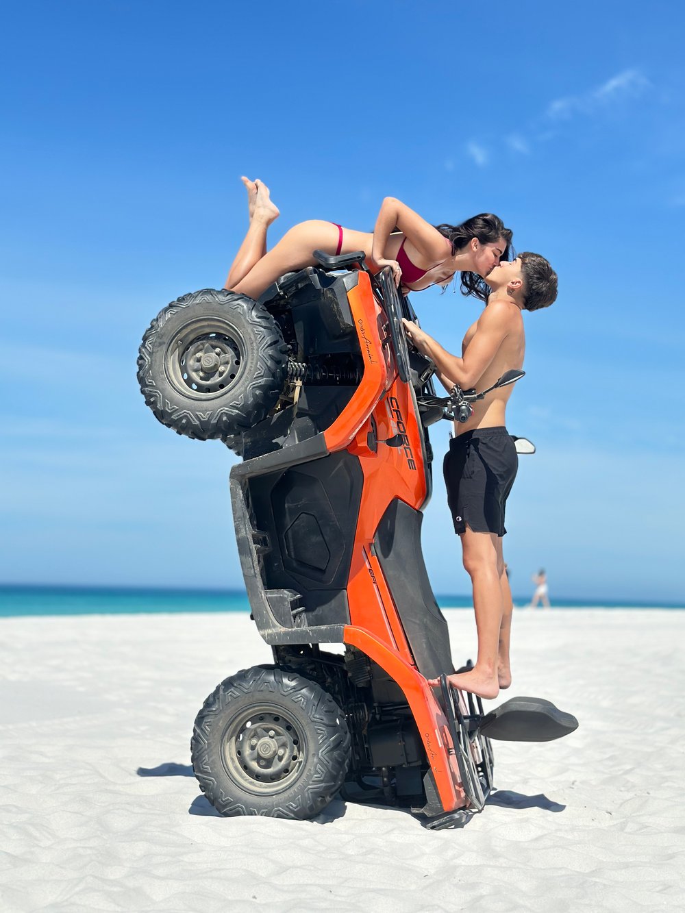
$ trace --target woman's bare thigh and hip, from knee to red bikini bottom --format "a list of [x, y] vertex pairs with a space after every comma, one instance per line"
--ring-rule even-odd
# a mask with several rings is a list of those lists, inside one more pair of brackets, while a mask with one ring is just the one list
[[227, 281], [226, 288], [250, 298], [258, 298], [284, 273], [313, 266], [316, 262], [312, 256], [315, 250], [334, 254], [338, 247], [338, 239], [338, 226], [332, 222], [322, 222], [318, 219], [300, 222], [300, 225], [290, 228], [264, 257], [258, 258], [245, 278], [235, 285]]

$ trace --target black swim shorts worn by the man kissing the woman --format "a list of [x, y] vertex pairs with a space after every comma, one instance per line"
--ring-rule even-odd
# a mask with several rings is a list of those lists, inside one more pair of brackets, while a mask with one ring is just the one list
[[516, 447], [503, 425], [474, 428], [450, 440], [443, 472], [458, 535], [467, 526], [504, 535], [504, 508], [518, 468]]

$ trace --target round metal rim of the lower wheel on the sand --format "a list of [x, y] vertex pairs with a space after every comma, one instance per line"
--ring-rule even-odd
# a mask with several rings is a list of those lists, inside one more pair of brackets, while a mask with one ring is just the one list
[[275, 705], [260, 704], [232, 719], [222, 740], [228, 776], [247, 792], [272, 795], [296, 782], [307, 756], [297, 720]]

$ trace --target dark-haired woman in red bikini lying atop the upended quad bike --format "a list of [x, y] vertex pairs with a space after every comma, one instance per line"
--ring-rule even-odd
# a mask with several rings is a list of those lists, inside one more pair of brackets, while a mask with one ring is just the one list
[[228, 273], [226, 289], [257, 299], [284, 273], [316, 265], [312, 251], [331, 256], [363, 250], [372, 272], [392, 268], [405, 292], [447, 285], [461, 273], [465, 295], [486, 299], [483, 278], [510, 256], [511, 230], [497, 215], [474, 215], [458, 226], [431, 226], [392, 196], [385, 197], [374, 231], [354, 231], [334, 222], [300, 222], [267, 252], [267, 230], [279, 210], [261, 181], [243, 177], [248, 190], [248, 233]]

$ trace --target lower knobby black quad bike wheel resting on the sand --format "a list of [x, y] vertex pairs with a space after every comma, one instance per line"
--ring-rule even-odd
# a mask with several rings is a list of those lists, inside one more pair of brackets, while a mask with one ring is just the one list
[[191, 753], [200, 789], [221, 814], [312, 818], [342, 786], [350, 733], [321, 686], [256, 666], [205, 700]]

